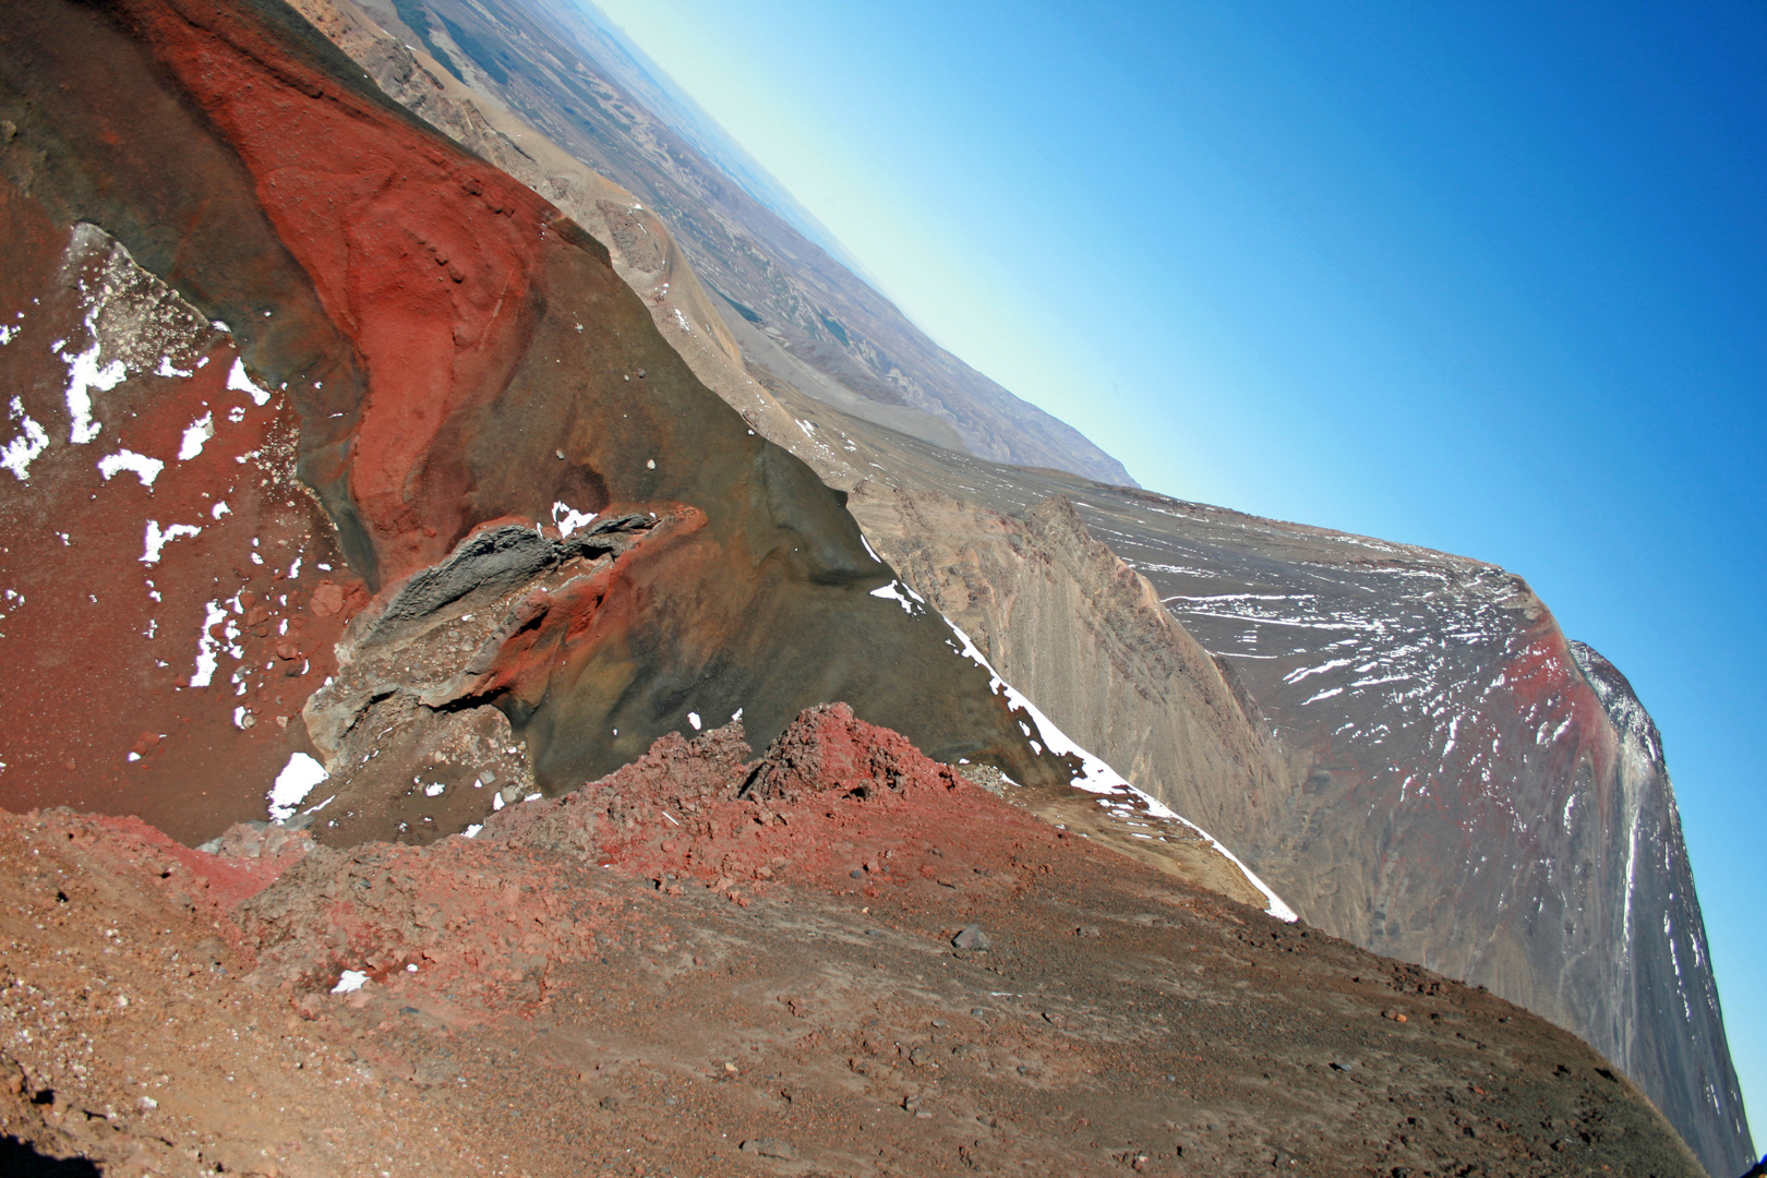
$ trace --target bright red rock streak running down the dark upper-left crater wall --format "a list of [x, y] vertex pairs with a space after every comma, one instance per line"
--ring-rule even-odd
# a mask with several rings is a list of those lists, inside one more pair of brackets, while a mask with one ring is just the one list
[[558, 212], [491, 164], [412, 134], [237, 5], [118, 9], [239, 154], [355, 344], [369, 390], [348, 482], [378, 578], [435, 563], [470, 523], [474, 484], [442, 433], [509, 385]]

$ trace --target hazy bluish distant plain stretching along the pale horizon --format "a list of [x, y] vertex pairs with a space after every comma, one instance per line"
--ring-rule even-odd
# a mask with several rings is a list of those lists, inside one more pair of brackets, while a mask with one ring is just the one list
[[1133, 482], [1080, 431], [929, 341], [648, 109], [617, 79], [618, 64], [603, 64], [622, 51], [574, 5], [359, 2], [398, 41], [659, 214], [724, 309], [818, 374], [808, 392], [998, 461]]

